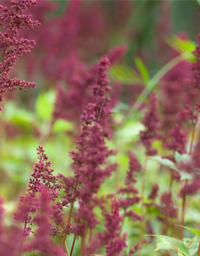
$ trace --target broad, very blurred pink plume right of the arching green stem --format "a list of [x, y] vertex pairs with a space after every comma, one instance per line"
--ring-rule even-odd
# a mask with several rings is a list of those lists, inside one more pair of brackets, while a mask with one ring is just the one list
[[[176, 57], [177, 52], [173, 55]], [[182, 61], [162, 78], [162, 101], [160, 102], [164, 116], [162, 130], [168, 131], [174, 126], [176, 114], [185, 104], [192, 106], [192, 102], [196, 99], [196, 89], [187, 82], [191, 76], [190, 62]]]

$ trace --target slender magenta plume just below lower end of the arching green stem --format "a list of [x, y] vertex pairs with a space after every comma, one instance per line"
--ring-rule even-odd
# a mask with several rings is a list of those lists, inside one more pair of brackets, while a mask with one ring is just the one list
[[145, 130], [140, 132], [140, 140], [146, 147], [146, 154], [148, 156], [155, 155], [157, 154], [157, 150], [152, 149], [152, 141], [160, 138], [158, 131], [161, 124], [158, 115], [158, 102], [155, 93], [150, 95], [148, 111], [142, 120], [142, 124], [144, 124]]

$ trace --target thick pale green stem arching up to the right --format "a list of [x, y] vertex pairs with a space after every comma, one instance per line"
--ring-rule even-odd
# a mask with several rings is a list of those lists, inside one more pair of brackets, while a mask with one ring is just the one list
[[150, 92], [154, 89], [156, 84], [160, 81], [160, 79], [172, 68], [178, 65], [183, 60], [187, 60], [191, 56], [190, 52], [184, 52], [178, 55], [176, 58], [170, 60], [164, 67], [162, 67], [146, 84], [144, 90], [141, 92], [140, 96], [137, 98], [136, 102], [133, 104], [132, 108], [129, 110], [127, 117], [130, 117], [131, 114], [135, 114], [137, 110], [140, 108], [144, 99], [150, 94]]

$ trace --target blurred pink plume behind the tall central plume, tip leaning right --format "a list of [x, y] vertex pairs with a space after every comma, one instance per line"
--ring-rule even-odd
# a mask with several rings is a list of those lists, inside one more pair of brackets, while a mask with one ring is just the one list
[[[126, 50], [126, 46], [118, 46], [108, 52], [110, 65], [120, 61]], [[64, 79], [67, 90], [58, 83], [54, 119], [70, 120], [75, 122], [77, 126], [79, 123], [78, 117], [86, 109], [88, 102], [95, 103], [90, 87], [96, 83], [98, 65], [94, 64], [87, 68], [85, 63], [80, 60], [80, 57], [77, 54], [73, 54], [64, 60], [63, 66], [60, 66], [57, 75], [59, 80]], [[114, 93], [117, 91], [117, 86], [114, 86], [113, 91]], [[117, 98], [118, 96], [118, 93], [116, 93], [112, 98]], [[113, 104], [115, 102], [116, 100], [112, 101]]]

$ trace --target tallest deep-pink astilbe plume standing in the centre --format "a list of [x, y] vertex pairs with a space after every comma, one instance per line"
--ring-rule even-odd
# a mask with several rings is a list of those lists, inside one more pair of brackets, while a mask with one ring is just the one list
[[[70, 152], [74, 177], [59, 175], [66, 192], [64, 200], [71, 203], [71, 209], [75, 200], [79, 202], [73, 232], [82, 236], [82, 240], [87, 229], [92, 230], [98, 223], [93, 212], [96, 206], [94, 195], [105, 178], [111, 176], [117, 167], [116, 164], [107, 164], [108, 156], [115, 154], [115, 151], [109, 150], [105, 142], [110, 133], [109, 122], [112, 113], [108, 98], [108, 92], [111, 90], [108, 86], [108, 65], [108, 58], [103, 56], [98, 63], [96, 85], [91, 86], [94, 103], [89, 103], [81, 115], [82, 131], [76, 140], [76, 151]], [[104, 164], [106, 167], [102, 168]]]

